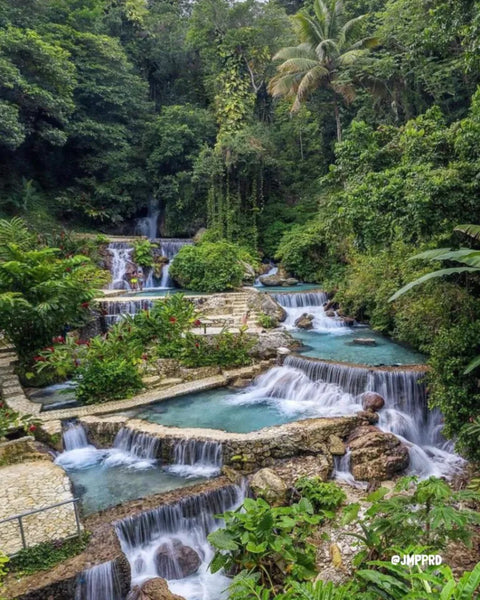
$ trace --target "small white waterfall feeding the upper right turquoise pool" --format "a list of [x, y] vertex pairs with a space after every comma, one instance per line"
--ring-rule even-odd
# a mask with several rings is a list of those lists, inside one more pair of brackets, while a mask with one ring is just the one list
[[325, 292], [297, 292], [272, 295], [274, 300], [285, 309], [287, 318], [283, 325], [287, 329], [295, 328], [295, 321], [304, 313], [313, 315], [313, 330], [319, 333], [348, 333], [343, 320], [327, 317], [323, 305], [328, 301]]

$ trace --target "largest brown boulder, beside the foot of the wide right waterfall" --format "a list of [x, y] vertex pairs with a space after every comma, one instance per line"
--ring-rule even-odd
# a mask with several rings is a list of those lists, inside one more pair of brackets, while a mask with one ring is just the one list
[[352, 474], [357, 480], [384, 481], [408, 467], [408, 448], [393, 433], [373, 425], [354, 429], [347, 444]]

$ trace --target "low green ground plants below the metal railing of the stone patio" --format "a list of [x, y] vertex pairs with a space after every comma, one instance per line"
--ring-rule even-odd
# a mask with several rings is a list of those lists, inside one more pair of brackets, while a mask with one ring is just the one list
[[20, 550], [10, 560], [10, 570], [22, 575], [30, 575], [37, 571], [46, 571], [72, 556], [85, 550], [90, 539], [90, 534], [82, 533], [79, 537], [70, 540], [55, 540], [42, 542], [37, 546]]

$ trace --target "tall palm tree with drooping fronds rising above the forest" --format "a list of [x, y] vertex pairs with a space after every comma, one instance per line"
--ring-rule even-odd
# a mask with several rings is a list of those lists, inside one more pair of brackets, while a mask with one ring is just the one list
[[316, 89], [330, 90], [337, 139], [341, 142], [338, 100], [342, 98], [349, 103], [355, 98], [353, 84], [340, 77], [342, 70], [357, 62], [378, 42], [375, 38], [360, 37], [366, 15], [345, 21], [341, 0], [314, 0], [313, 12], [313, 17], [303, 12], [293, 17], [300, 44], [282, 48], [273, 57], [284, 62], [277, 67], [269, 90], [274, 97], [294, 98], [292, 112]]

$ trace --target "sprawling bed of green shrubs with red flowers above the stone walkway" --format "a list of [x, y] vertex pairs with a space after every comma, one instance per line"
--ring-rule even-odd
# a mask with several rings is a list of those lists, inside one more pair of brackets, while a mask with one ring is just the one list
[[128, 398], [142, 389], [142, 375], [156, 361], [171, 358], [186, 367], [244, 366], [251, 362], [254, 340], [241, 331], [197, 335], [200, 315], [182, 294], [156, 302], [151, 310], [127, 317], [108, 333], [88, 341], [77, 333], [53, 339], [36, 357], [38, 374], [76, 381], [76, 398], [95, 404]]

